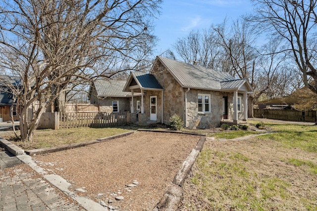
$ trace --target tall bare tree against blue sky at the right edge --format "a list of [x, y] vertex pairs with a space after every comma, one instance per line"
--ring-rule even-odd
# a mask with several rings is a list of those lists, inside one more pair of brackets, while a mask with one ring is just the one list
[[[317, 93], [317, 1], [254, 0], [256, 13], [251, 21], [284, 41], [301, 71], [306, 87]], [[313, 79], [313, 81], [311, 81]], [[310, 83], [312, 82], [312, 83]]]

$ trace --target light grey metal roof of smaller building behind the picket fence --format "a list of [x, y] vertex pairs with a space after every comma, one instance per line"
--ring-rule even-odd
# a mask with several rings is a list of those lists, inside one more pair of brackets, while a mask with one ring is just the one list
[[96, 80], [94, 82], [98, 97], [127, 97], [130, 92], [122, 91], [126, 81]]

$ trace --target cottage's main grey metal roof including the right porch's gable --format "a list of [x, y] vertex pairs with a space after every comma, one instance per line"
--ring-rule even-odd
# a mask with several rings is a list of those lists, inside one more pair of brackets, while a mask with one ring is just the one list
[[[215, 71], [210, 68], [157, 56], [159, 61], [174, 79], [185, 88], [198, 88], [208, 90], [236, 90], [246, 85], [248, 91], [252, 91], [252, 86], [247, 79], [236, 80], [229, 73]], [[155, 61], [155, 63], [156, 63]], [[152, 67], [153, 71], [154, 66]]]

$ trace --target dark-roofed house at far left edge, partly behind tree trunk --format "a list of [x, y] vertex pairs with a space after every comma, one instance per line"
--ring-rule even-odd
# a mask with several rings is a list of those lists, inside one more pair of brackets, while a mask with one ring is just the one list
[[[21, 86], [21, 78], [13, 77], [13, 76], [4, 76], [0, 75], [0, 117], [2, 118], [3, 122], [11, 120], [11, 112], [10, 109], [12, 107], [12, 115], [13, 120], [19, 120], [16, 104], [15, 104], [15, 97], [10, 89], [3, 81], [11, 82], [13, 87], [18, 88]], [[1, 83], [2, 81], [2, 83]]]

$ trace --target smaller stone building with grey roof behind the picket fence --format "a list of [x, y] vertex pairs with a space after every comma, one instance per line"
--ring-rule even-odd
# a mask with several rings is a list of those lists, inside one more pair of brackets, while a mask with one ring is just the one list
[[[98, 104], [101, 112], [130, 111], [131, 92], [122, 91], [125, 84], [126, 81], [96, 80], [90, 87], [90, 103]], [[137, 103], [139, 104], [137, 105]], [[138, 108], [140, 110], [140, 101], [135, 101], [134, 104], [135, 111]]]

